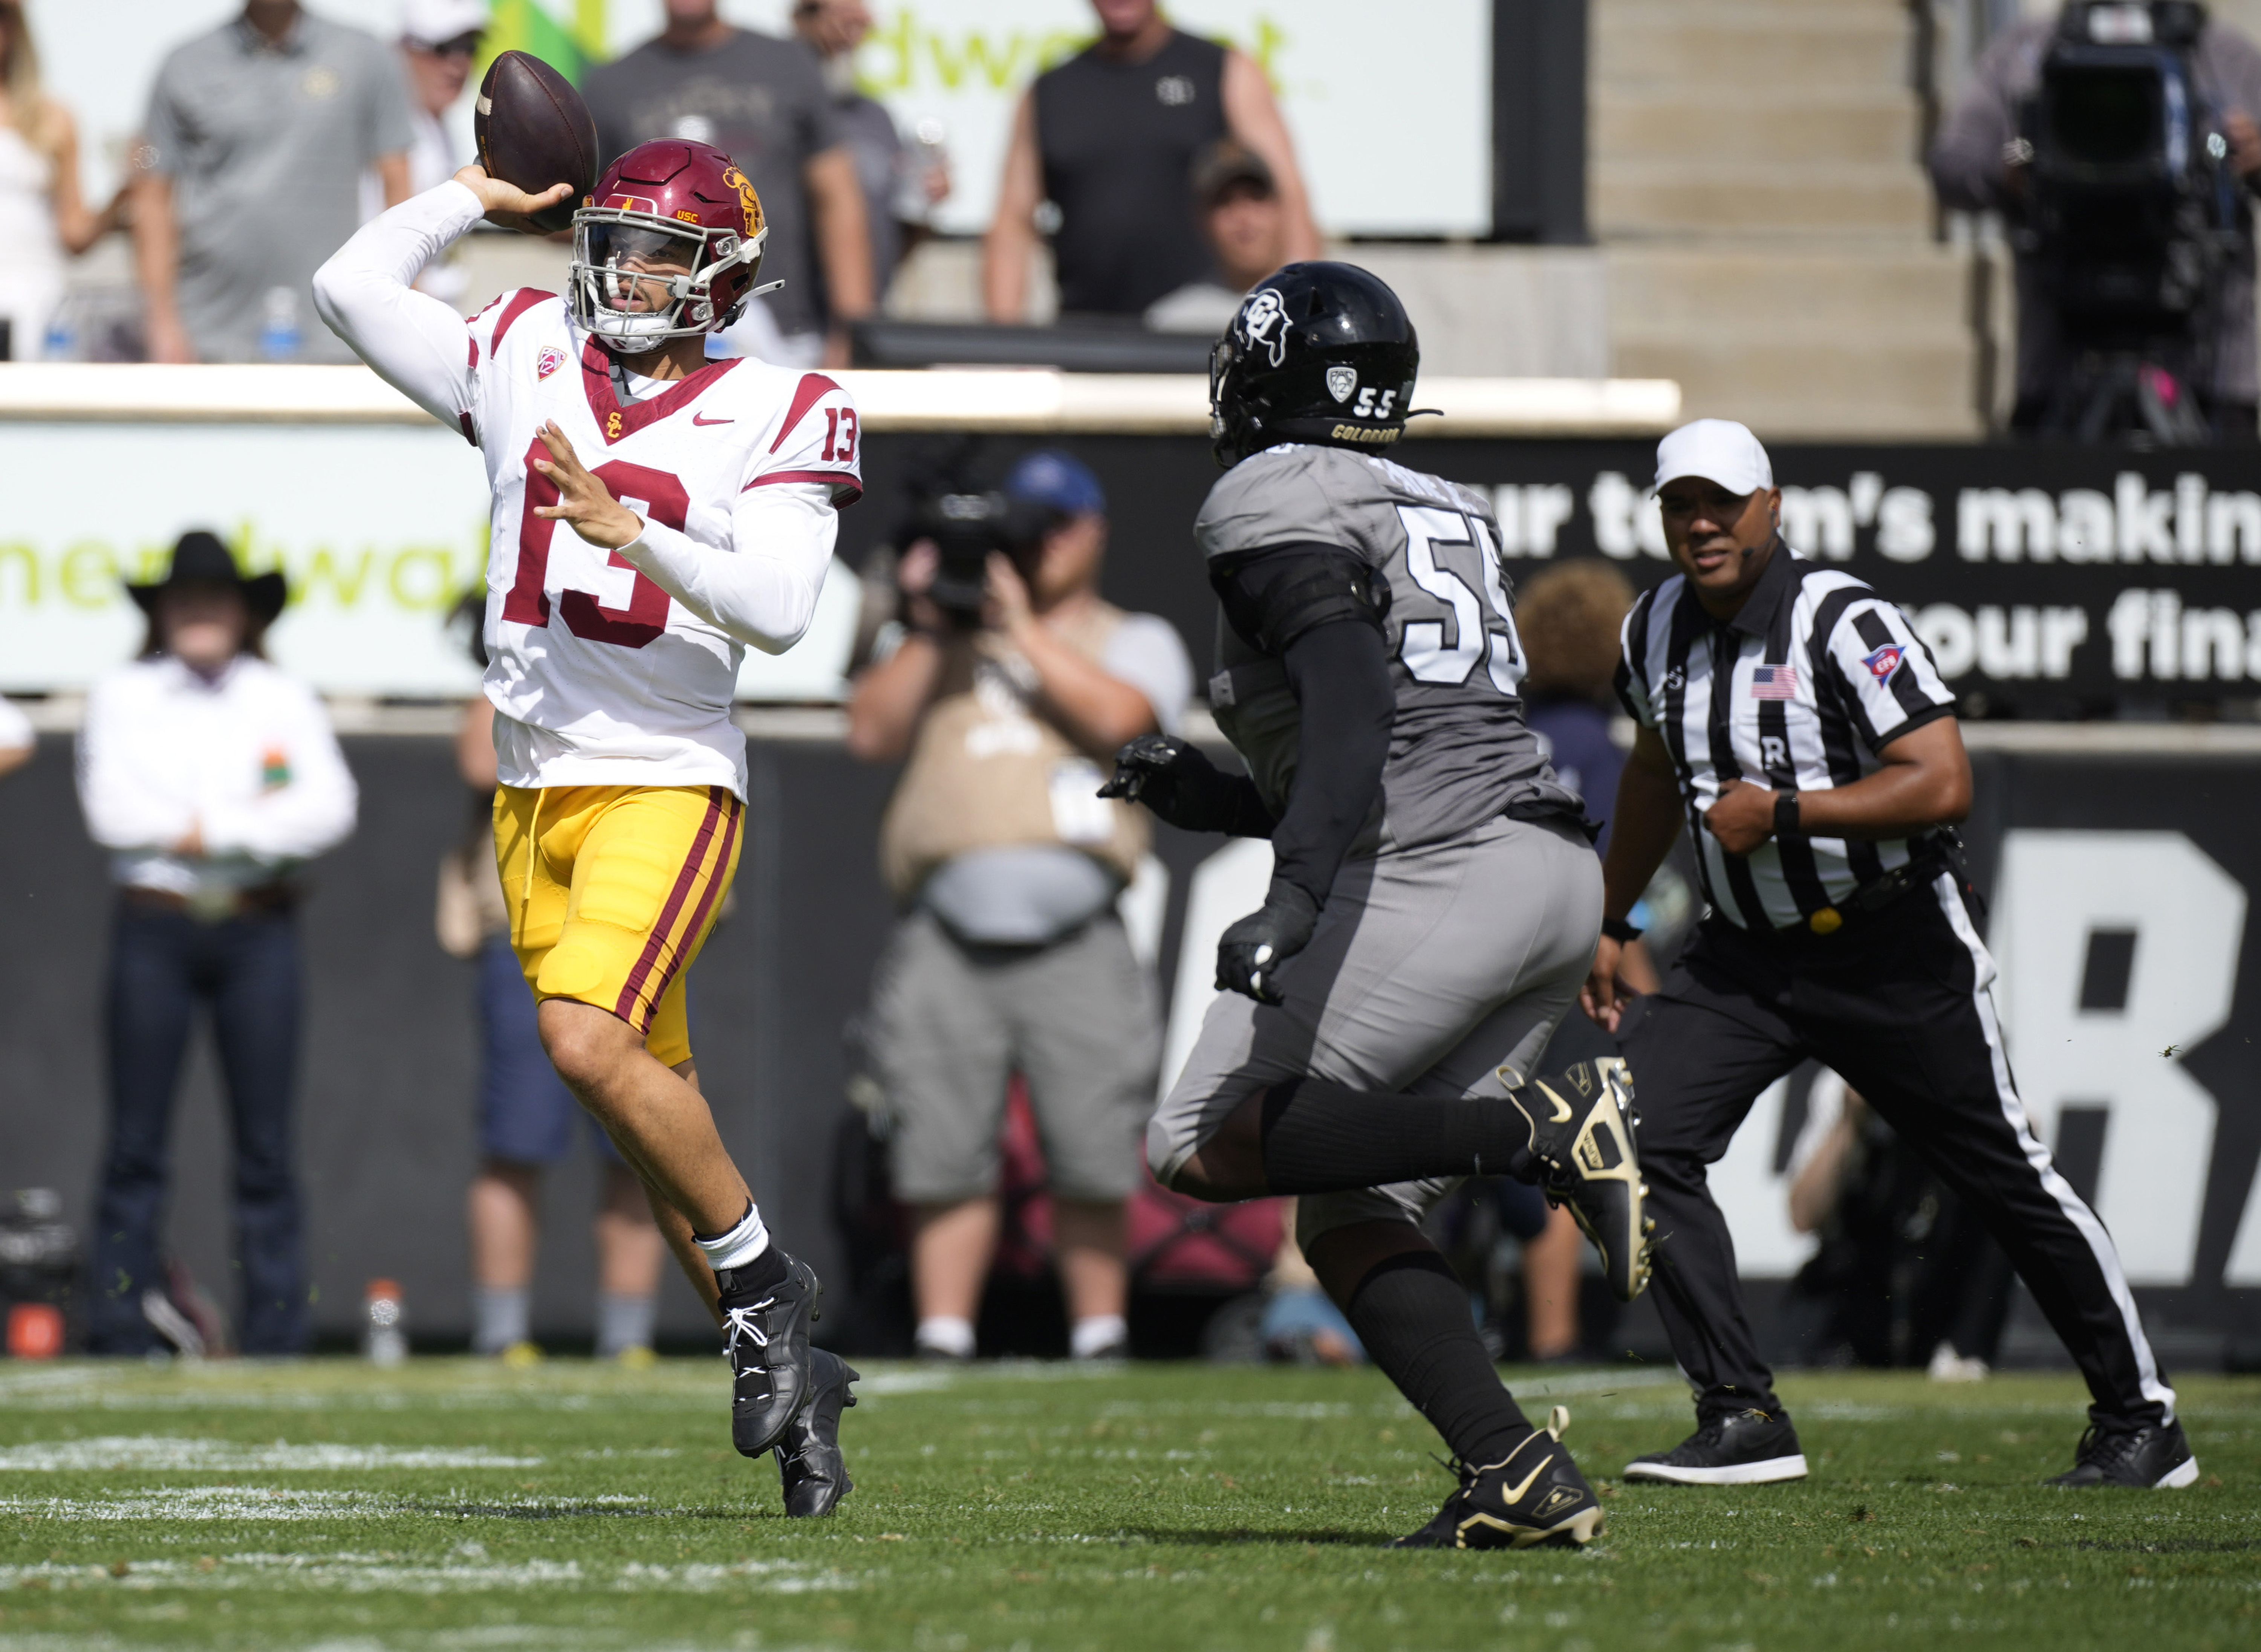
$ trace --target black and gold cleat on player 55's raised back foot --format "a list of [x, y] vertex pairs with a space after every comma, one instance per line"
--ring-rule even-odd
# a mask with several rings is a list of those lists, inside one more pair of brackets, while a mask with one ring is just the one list
[[[1501, 1078], [1508, 1073], [1504, 1071]], [[1531, 1125], [1531, 1155], [1549, 1205], [1569, 1205], [1601, 1252], [1610, 1295], [1632, 1302], [1648, 1288], [1648, 1186], [1635, 1150], [1632, 1073], [1617, 1055], [1571, 1062], [1515, 1085], [1508, 1098]]]

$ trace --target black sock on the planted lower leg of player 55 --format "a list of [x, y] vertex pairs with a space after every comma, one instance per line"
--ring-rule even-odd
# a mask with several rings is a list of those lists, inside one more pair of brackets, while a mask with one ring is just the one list
[[1470, 1324], [1467, 1288], [1433, 1250], [1377, 1263], [1348, 1315], [1375, 1365], [1461, 1462], [1501, 1462], [1531, 1433]]

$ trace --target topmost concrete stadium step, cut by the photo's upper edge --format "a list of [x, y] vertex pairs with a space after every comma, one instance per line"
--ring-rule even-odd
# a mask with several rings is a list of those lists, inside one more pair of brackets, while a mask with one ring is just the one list
[[1734, 90], [1897, 86], [1908, 77], [1908, 11], [1883, 0], [1703, 5], [1601, 0], [1592, 14], [1596, 90], [1705, 86], [1734, 118]]

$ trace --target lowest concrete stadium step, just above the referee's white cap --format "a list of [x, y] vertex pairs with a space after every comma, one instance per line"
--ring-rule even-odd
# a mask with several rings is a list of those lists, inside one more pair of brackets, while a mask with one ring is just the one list
[[1680, 382], [1682, 418], [1741, 418], [1761, 438], [1978, 436], [1969, 337], [1868, 328], [1623, 332], [1612, 366]]

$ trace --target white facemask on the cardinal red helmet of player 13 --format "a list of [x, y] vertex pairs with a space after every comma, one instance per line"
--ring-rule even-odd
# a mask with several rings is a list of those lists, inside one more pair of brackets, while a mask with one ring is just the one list
[[[766, 224], [746, 237], [658, 212], [581, 208], [568, 269], [572, 316], [620, 355], [721, 332], [753, 296], [751, 278], [762, 267], [766, 240]], [[717, 310], [714, 282], [737, 269], [746, 271], [746, 289]]]

